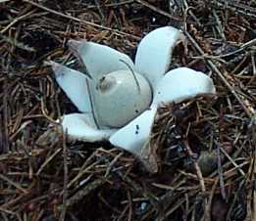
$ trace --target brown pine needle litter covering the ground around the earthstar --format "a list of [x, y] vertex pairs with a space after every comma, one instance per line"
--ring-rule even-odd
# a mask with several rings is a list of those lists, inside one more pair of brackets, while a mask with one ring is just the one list
[[[168, 24], [187, 39], [170, 68], [209, 72], [218, 94], [159, 109], [158, 173], [49, 127], [76, 111], [45, 65], [80, 66], [69, 39], [134, 58]], [[255, 38], [255, 1], [0, 0], [0, 220], [256, 220]]]

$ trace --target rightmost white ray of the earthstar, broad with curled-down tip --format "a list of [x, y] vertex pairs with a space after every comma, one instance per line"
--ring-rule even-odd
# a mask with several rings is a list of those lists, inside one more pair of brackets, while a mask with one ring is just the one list
[[213, 80], [206, 74], [179, 67], [170, 70], [156, 85], [153, 104], [179, 103], [198, 95], [215, 94]]

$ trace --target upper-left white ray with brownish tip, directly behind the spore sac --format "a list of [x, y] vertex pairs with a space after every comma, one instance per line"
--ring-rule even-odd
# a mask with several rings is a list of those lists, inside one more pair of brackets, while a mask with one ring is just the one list
[[128, 69], [128, 66], [134, 69], [133, 62], [126, 54], [108, 46], [85, 40], [70, 40], [68, 44], [93, 79], [99, 80], [104, 74]]

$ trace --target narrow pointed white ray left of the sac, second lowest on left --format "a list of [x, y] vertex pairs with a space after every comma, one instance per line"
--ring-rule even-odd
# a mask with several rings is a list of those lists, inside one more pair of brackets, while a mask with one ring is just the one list
[[87, 76], [67, 66], [50, 62], [55, 73], [55, 78], [66, 95], [82, 112], [91, 112], [90, 98], [88, 93]]

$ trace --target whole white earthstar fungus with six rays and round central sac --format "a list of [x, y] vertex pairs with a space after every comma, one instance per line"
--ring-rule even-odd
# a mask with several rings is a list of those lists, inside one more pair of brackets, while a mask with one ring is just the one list
[[108, 140], [155, 172], [149, 140], [158, 107], [216, 93], [212, 79], [200, 71], [187, 67], [168, 71], [182, 37], [172, 26], [149, 32], [138, 45], [134, 64], [108, 46], [70, 40], [71, 51], [87, 72], [51, 62], [56, 81], [81, 112], [65, 114], [60, 120], [69, 137]]

